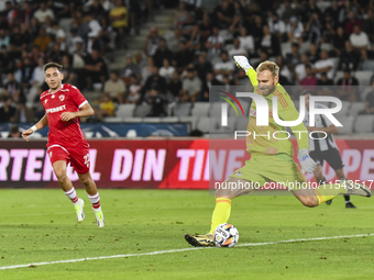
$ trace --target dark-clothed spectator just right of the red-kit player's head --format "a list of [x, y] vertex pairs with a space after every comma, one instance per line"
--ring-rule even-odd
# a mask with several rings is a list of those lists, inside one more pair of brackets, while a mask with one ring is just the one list
[[107, 64], [99, 56], [98, 51], [92, 49], [92, 53], [86, 57], [85, 70], [87, 89], [92, 89], [94, 82], [101, 85], [106, 82], [108, 77]]

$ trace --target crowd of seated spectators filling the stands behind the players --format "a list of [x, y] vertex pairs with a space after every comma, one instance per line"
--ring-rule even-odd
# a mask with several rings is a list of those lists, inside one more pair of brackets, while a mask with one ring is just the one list
[[[167, 104], [208, 102], [211, 86], [229, 91], [248, 85], [234, 55], [248, 56], [254, 67], [277, 63], [294, 99], [308, 89], [364, 101], [361, 114], [374, 113], [374, 79], [360, 85], [355, 77], [374, 70], [374, 0], [221, 0], [212, 10], [180, 0], [170, 30], [151, 27], [142, 52], [128, 54], [118, 71], [108, 70], [105, 55], [131, 44], [127, 36], [136, 33], [138, 15], [150, 15], [163, 0], [34, 2], [0, 7], [2, 122], [44, 113], [36, 101], [45, 90], [42, 67], [51, 60], [64, 65], [65, 82], [102, 90], [101, 119], [123, 103], [150, 104], [148, 116], [166, 116]], [[68, 32], [66, 18], [73, 18]], [[370, 85], [365, 94], [354, 87]]]

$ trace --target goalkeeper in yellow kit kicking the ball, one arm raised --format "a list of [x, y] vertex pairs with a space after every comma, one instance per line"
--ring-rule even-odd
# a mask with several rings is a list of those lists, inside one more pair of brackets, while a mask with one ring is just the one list
[[[294, 102], [290, 100], [286, 90], [278, 83], [279, 67], [272, 61], [264, 61], [254, 70], [245, 56], [233, 57], [238, 67], [242, 68], [250, 77], [254, 87], [254, 91], [261, 94], [268, 103], [268, 108], [273, 105], [273, 97], [277, 97], [278, 115], [284, 121], [295, 121], [298, 119], [298, 112]], [[271, 112], [271, 111], [270, 111]], [[321, 184], [317, 189], [295, 188], [306, 183], [304, 172], [312, 173], [317, 167], [314, 159], [309, 157], [308, 150], [308, 131], [304, 123], [290, 127], [297, 135], [298, 159], [300, 166], [294, 161], [294, 148], [289, 139], [253, 137], [255, 134], [273, 135], [274, 132], [286, 132], [284, 126], [275, 123], [272, 113], [268, 117], [268, 126], [256, 126], [256, 104], [252, 102], [250, 110], [250, 121], [248, 131], [251, 135], [246, 138], [248, 152], [251, 159], [238, 169], [234, 173], [216, 190], [216, 208], [211, 219], [211, 228], [205, 235], [186, 234], [185, 239], [193, 246], [215, 246], [213, 232], [220, 224], [227, 223], [231, 213], [231, 200], [246, 194], [255, 189], [254, 186], [263, 187], [270, 181], [293, 183], [290, 190], [293, 194], [305, 205], [315, 208], [333, 199], [339, 194], [356, 194], [362, 197], [371, 197], [371, 190], [364, 184], [358, 184], [349, 180], [341, 180], [337, 184]], [[253, 132], [253, 133], [252, 133]], [[306, 132], [306, 133], [302, 133]], [[280, 138], [282, 136], [277, 136]], [[234, 188], [227, 188], [228, 186]], [[237, 188], [238, 186], [246, 186], [245, 188]], [[305, 184], [302, 184], [305, 186]]]

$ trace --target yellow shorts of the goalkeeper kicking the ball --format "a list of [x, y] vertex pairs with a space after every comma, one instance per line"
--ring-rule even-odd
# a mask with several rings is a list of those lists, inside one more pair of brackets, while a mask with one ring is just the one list
[[300, 167], [286, 154], [252, 155], [251, 159], [245, 161], [245, 166], [230, 177], [251, 181], [255, 189], [262, 187], [273, 189], [272, 187], [278, 186], [298, 190], [307, 182]]

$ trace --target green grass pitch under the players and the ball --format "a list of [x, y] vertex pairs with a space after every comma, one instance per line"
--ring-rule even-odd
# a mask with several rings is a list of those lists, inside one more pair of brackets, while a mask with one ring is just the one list
[[[77, 223], [62, 190], [0, 190], [0, 267], [87, 257], [110, 259], [0, 270], [0, 279], [373, 279], [374, 236], [189, 249], [184, 234], [209, 229], [208, 191], [100, 190], [106, 226], [95, 223], [87, 194]], [[230, 222], [240, 244], [374, 233], [374, 200], [343, 198], [302, 206], [292, 195], [233, 200]]]

